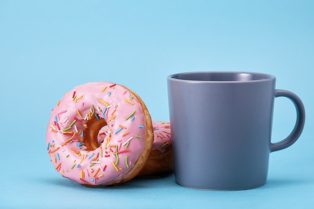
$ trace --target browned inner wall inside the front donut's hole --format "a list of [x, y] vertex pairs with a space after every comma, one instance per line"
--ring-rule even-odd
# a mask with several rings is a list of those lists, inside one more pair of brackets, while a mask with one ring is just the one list
[[87, 128], [85, 130], [83, 143], [88, 150], [95, 150], [100, 146], [100, 143], [103, 141], [98, 140], [98, 135], [102, 128], [107, 126], [107, 121], [103, 118], [93, 117], [88, 120]]

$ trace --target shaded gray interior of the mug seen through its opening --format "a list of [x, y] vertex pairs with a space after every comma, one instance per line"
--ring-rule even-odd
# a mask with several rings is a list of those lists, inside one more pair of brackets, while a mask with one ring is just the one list
[[190, 72], [170, 76], [174, 79], [190, 81], [239, 82], [273, 79], [274, 76], [249, 72]]

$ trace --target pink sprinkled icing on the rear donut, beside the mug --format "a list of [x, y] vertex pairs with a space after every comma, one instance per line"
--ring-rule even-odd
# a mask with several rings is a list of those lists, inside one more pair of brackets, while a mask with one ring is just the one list
[[171, 145], [170, 123], [162, 121], [152, 121], [153, 127], [153, 144], [151, 150], [160, 150], [165, 152], [166, 148]]

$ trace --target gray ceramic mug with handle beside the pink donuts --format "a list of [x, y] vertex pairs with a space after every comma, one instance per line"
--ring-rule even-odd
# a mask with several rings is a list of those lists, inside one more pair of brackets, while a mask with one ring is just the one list
[[[182, 186], [209, 190], [261, 186], [269, 153], [290, 146], [302, 132], [301, 100], [276, 90], [272, 75], [191, 72], [167, 79], [175, 177]], [[290, 135], [272, 143], [275, 97], [289, 98], [297, 117]]]

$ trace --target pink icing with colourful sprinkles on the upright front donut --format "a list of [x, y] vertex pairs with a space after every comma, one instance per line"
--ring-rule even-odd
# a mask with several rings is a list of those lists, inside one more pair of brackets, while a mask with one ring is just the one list
[[[93, 117], [104, 118], [108, 126], [104, 134], [99, 131], [99, 147], [87, 150], [82, 139]], [[62, 176], [82, 184], [110, 185], [134, 166], [145, 133], [143, 110], [130, 91], [110, 82], [87, 83], [66, 93], [52, 110], [46, 146]]]

